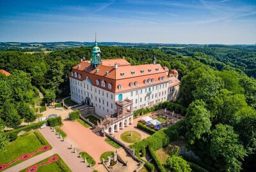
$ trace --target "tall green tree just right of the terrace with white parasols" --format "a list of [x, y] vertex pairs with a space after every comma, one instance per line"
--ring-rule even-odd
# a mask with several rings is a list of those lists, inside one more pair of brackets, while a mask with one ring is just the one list
[[211, 120], [210, 113], [205, 108], [206, 104], [202, 100], [196, 100], [191, 103], [186, 114], [187, 133], [186, 138], [190, 144], [195, 140], [200, 140], [203, 134], [210, 133]]

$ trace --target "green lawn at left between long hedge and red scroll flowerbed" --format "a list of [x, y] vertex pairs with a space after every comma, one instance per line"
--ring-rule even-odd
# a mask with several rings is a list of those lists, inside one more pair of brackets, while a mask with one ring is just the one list
[[[49, 143], [47, 144], [49, 145]], [[21, 155], [24, 154], [31, 154], [35, 150], [38, 150], [38, 148], [43, 147], [36, 137], [36, 135], [30, 131], [29, 133], [25, 133], [24, 136], [18, 136], [17, 140], [10, 142], [6, 146], [7, 152], [0, 152], [0, 164], [8, 164], [9, 162], [12, 162], [13, 160], [17, 159]], [[37, 154], [33, 155], [32, 157], [42, 154], [44, 151], [40, 151]], [[22, 160], [19, 160], [12, 164], [19, 164], [22, 162]], [[8, 167], [10, 168], [10, 166]]]

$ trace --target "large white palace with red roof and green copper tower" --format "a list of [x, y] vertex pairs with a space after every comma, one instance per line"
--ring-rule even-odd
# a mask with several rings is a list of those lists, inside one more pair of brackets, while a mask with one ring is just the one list
[[131, 66], [124, 58], [102, 60], [100, 55], [95, 41], [92, 61], [81, 59], [72, 68], [71, 99], [93, 106], [102, 118], [125, 118], [118, 128], [132, 123], [132, 111], [175, 101], [179, 96], [178, 72], [169, 73], [167, 67], [156, 64], [156, 57], [152, 58], [152, 64]]

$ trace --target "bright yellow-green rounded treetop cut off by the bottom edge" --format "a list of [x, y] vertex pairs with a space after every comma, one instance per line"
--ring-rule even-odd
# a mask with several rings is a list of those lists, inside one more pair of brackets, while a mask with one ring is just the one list
[[166, 164], [164, 165], [164, 168], [166, 169], [166, 171], [170, 171], [170, 172], [191, 171], [191, 168], [189, 167], [189, 164], [187, 163], [187, 161], [185, 161], [184, 159], [176, 155], [172, 155], [171, 157], [168, 157], [168, 159], [166, 160]]

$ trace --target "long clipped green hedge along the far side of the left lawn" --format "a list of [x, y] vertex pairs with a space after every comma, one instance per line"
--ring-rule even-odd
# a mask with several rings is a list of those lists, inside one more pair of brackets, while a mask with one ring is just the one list
[[35, 124], [27, 125], [26, 127], [20, 127], [19, 129], [13, 129], [12, 131], [7, 131], [4, 134], [8, 135], [10, 138], [10, 141], [14, 141], [17, 139], [17, 135], [20, 131], [31, 131], [31, 129], [38, 129], [43, 124], [45, 124], [45, 121], [37, 122]]

